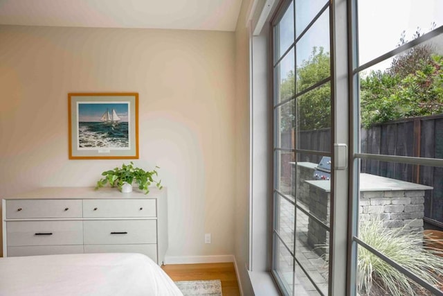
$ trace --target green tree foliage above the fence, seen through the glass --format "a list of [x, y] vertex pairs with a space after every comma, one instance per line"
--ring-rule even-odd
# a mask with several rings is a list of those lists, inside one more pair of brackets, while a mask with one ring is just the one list
[[[431, 30], [435, 28], [432, 24]], [[422, 35], [419, 28], [413, 35]], [[398, 46], [408, 40], [402, 33]], [[296, 96], [330, 76], [329, 53], [314, 47], [296, 71], [280, 83], [280, 130], [315, 130], [331, 126], [329, 82]], [[371, 71], [360, 79], [361, 123], [377, 123], [443, 113], [443, 56], [433, 53], [429, 43], [409, 49], [392, 59], [385, 71]]]

